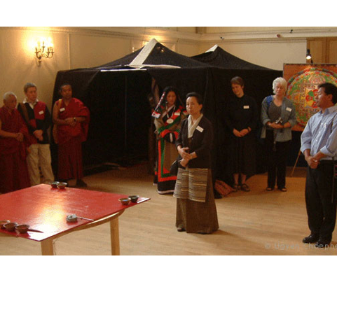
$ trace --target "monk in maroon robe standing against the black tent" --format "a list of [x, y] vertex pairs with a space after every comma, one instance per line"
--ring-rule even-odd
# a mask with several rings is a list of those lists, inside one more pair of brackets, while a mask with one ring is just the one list
[[90, 112], [84, 104], [72, 97], [71, 85], [60, 88], [62, 99], [55, 102], [53, 132], [58, 145], [57, 178], [60, 181], [76, 179], [76, 186], [85, 187], [83, 181], [82, 142], [86, 140]]

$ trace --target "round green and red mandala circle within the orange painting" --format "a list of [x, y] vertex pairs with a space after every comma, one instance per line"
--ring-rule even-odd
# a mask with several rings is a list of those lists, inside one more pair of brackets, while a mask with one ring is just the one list
[[296, 73], [288, 80], [287, 97], [296, 107], [297, 130], [303, 130], [309, 118], [319, 111], [317, 91], [319, 84], [337, 85], [337, 73], [323, 68], [309, 68]]

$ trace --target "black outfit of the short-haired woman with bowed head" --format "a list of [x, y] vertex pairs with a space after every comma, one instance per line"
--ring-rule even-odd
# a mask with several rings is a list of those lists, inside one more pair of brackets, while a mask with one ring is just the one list
[[[259, 120], [255, 99], [247, 95], [234, 96], [227, 104], [224, 121], [230, 132], [228, 166], [231, 174], [245, 174], [247, 179], [255, 174], [256, 138], [255, 130]], [[239, 132], [247, 128], [251, 132], [245, 137], [235, 137], [233, 130]]]

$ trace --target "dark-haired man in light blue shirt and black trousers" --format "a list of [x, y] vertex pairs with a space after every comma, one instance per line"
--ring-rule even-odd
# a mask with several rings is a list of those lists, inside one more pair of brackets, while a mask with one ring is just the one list
[[301, 136], [301, 151], [308, 163], [305, 204], [311, 234], [303, 243], [329, 246], [336, 224], [336, 185], [334, 161], [337, 162], [337, 87], [319, 85], [321, 109], [308, 121]]

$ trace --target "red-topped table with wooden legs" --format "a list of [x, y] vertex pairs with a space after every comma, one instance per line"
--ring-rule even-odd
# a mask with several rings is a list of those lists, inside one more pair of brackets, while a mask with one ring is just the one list
[[[128, 207], [146, 202], [149, 198], [139, 197], [137, 203], [123, 206], [118, 201], [127, 195], [102, 193], [77, 188], [51, 188], [41, 184], [0, 195], [0, 221], [9, 220], [28, 224], [26, 234], [0, 230], [1, 233], [41, 241], [42, 255], [53, 255], [53, 240], [62, 235], [110, 222], [111, 253], [119, 255], [118, 216]], [[67, 222], [70, 214], [76, 214], [78, 221]]]

